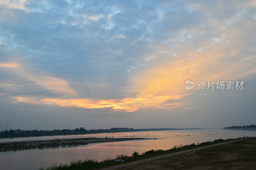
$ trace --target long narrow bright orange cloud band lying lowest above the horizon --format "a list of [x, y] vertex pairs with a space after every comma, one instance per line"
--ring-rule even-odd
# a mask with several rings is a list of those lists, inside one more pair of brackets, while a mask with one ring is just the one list
[[[177, 96], [151, 96], [145, 95], [141, 97], [127, 97], [124, 99], [114, 100], [90, 100], [90, 99], [61, 99], [61, 98], [44, 98], [36, 100], [29, 97], [14, 97], [14, 102], [19, 103], [34, 103], [34, 104], [56, 104], [63, 107], [82, 107], [88, 109], [111, 108], [113, 111], [134, 112], [141, 108], [175, 108], [182, 104], [176, 102], [183, 95]], [[174, 102], [166, 103], [167, 100], [173, 99]]]

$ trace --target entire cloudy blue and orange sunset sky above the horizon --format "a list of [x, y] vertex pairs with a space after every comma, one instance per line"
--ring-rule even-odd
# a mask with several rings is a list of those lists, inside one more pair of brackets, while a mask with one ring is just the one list
[[0, 126], [256, 124], [255, 28], [255, 0], [1, 0]]

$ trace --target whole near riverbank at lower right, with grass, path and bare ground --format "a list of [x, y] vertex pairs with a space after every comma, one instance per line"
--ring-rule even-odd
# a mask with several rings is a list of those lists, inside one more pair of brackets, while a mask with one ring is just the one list
[[[218, 146], [217, 146], [218, 145]], [[175, 156], [172, 156], [175, 155]], [[255, 167], [256, 138], [219, 139], [213, 142], [178, 145], [172, 149], [151, 150], [139, 155], [117, 155], [113, 160], [73, 161], [69, 165], [54, 165], [46, 168], [55, 169], [184, 169], [184, 168], [230, 168]], [[233, 164], [235, 166], [233, 166]], [[118, 165], [118, 166], [117, 166]], [[232, 169], [232, 168], [231, 168]]]

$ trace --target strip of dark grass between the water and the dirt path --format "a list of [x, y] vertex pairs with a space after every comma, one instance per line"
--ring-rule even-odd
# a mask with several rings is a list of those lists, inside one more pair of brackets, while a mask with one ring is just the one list
[[[231, 141], [235, 139], [217, 139], [214, 141], [207, 141], [207, 142], [202, 142], [202, 143], [192, 143], [189, 145], [175, 145], [171, 149], [168, 150], [162, 150], [162, 149], [156, 149], [156, 150], [150, 150], [150, 151], [145, 151], [141, 155], [139, 155], [139, 152], [135, 151], [132, 153], [131, 156], [121, 154], [116, 156], [115, 159], [122, 159], [125, 160], [125, 162], [132, 162], [132, 161], [137, 161], [145, 158], [150, 158], [154, 157], [157, 155], [163, 155], [167, 153], [172, 153], [172, 152], [177, 152], [177, 151], [183, 151], [183, 150], [188, 150], [188, 149], [193, 149], [197, 147], [202, 147], [202, 146], [207, 146], [215, 143], [222, 143], [226, 141]], [[66, 170], [66, 169], [96, 169], [96, 168], [102, 168], [102, 167], [109, 167], [109, 166], [115, 166], [117, 164], [123, 163], [123, 162], [113, 162], [115, 159], [103, 159], [102, 161], [97, 161], [97, 160], [91, 160], [91, 159], [86, 159], [86, 160], [76, 160], [76, 161], [71, 161], [70, 164], [60, 164], [60, 165], [52, 165], [46, 169], [42, 168], [40, 170]]]

